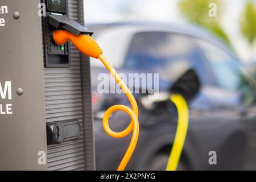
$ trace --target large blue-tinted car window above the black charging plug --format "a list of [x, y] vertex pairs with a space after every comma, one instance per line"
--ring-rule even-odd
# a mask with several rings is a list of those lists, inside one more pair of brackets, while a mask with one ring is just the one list
[[189, 38], [162, 32], [136, 34], [131, 41], [124, 67], [159, 73], [159, 77], [167, 81], [173, 81], [175, 76], [181, 75], [188, 68], [194, 68], [199, 74], [205, 75], [204, 65]]

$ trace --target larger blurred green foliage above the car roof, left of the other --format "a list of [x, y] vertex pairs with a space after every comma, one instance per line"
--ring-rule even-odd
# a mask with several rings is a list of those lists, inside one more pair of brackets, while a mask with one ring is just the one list
[[[209, 16], [209, 4], [217, 5], [217, 16]], [[228, 35], [220, 26], [221, 3], [219, 0], [181, 0], [178, 3], [181, 14], [189, 22], [204, 27], [231, 46]]]

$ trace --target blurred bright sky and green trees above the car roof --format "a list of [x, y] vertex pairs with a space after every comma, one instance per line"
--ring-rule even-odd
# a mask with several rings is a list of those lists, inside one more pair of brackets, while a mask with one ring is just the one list
[[[219, 36], [245, 63], [256, 61], [255, 0], [84, 0], [86, 23], [126, 20], [197, 24]], [[209, 17], [216, 3], [217, 17]]]

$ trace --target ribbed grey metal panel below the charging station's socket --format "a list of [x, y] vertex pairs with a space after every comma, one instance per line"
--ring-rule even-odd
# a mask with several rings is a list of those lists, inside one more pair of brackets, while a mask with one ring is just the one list
[[[69, 0], [69, 17], [78, 20], [77, 0]], [[80, 53], [71, 46], [71, 68], [44, 68], [44, 87], [46, 99], [46, 122], [77, 119], [80, 122], [82, 133], [77, 140], [70, 140], [60, 145], [47, 147], [49, 170], [85, 170], [86, 168], [86, 141], [84, 139], [84, 122], [86, 109], [81, 81]], [[89, 69], [89, 68], [88, 68]], [[90, 84], [90, 82], [89, 82]], [[88, 86], [85, 89], [90, 89]], [[89, 97], [90, 98], [90, 91]], [[88, 101], [90, 103], [90, 101]], [[91, 107], [89, 108], [91, 110]], [[88, 112], [90, 128], [92, 130], [92, 114]], [[86, 133], [86, 131], [85, 131]], [[90, 131], [92, 133], [92, 131]], [[90, 141], [92, 142], [92, 141]], [[92, 146], [93, 147], [93, 146]], [[92, 150], [93, 151], [93, 150]], [[93, 158], [92, 152], [89, 157]], [[92, 164], [89, 164], [89, 166]]]

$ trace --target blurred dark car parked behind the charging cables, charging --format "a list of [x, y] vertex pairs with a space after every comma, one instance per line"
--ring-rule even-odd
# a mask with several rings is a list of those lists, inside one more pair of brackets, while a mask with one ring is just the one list
[[[110, 23], [93, 24], [89, 28], [119, 73], [159, 76], [155, 99], [148, 99], [152, 90], [144, 88], [143, 83], [132, 87], [140, 91], [134, 96], [139, 106], [141, 131], [126, 169], [166, 168], [177, 125], [176, 107], [168, 97], [174, 83], [182, 80], [181, 75], [189, 69], [193, 70], [188, 73], [194, 78], [188, 75], [190, 80], [176, 83], [185, 88], [176, 92], [180, 90], [189, 104], [189, 129], [178, 169], [256, 169], [255, 84], [225, 44], [197, 27]], [[91, 59], [91, 65], [96, 169], [114, 170], [129, 146], [130, 137], [109, 137], [102, 127], [102, 116], [112, 105], [130, 104], [125, 94], [110, 92], [115, 85], [102, 87], [111, 80], [102, 80], [110, 76], [100, 61]], [[196, 86], [195, 75], [200, 88], [191, 97]], [[110, 93], [99, 93], [99, 89]], [[127, 114], [117, 112], [110, 118], [110, 127], [122, 131], [129, 122]], [[209, 162], [212, 151], [217, 164]]]

